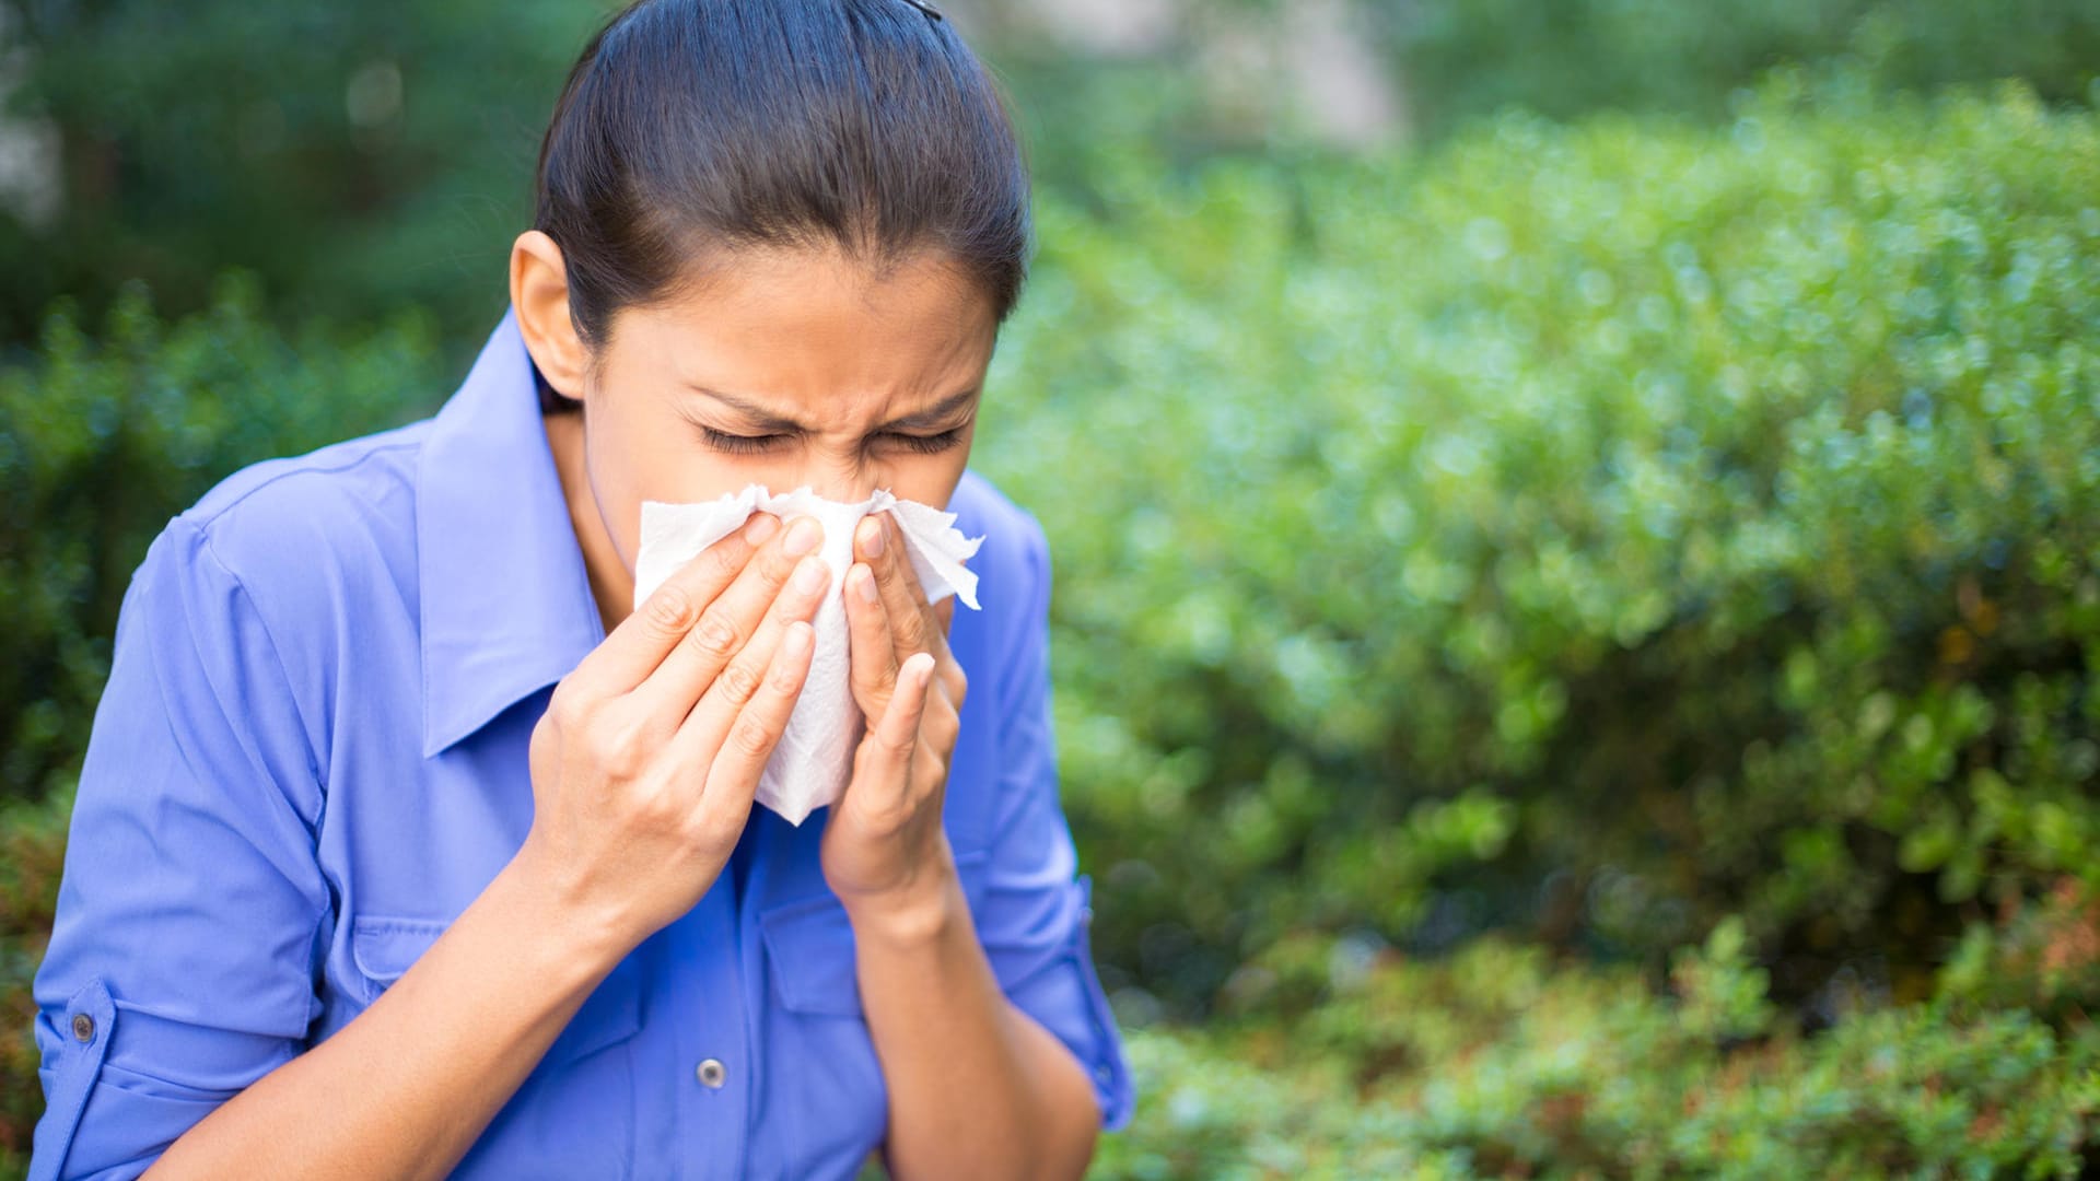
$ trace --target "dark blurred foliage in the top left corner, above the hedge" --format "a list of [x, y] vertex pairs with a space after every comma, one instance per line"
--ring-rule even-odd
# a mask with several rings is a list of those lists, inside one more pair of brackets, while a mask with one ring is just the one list
[[202, 309], [237, 265], [277, 324], [414, 303], [479, 343], [546, 118], [611, 8], [0, 0], [25, 46], [0, 99], [52, 122], [65, 177], [50, 225], [0, 210], [0, 340], [59, 292], [99, 315], [128, 277]]

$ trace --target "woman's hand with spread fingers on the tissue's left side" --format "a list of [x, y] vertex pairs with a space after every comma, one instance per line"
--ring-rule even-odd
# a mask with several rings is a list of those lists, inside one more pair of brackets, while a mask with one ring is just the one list
[[685, 563], [569, 677], [531, 733], [512, 868], [617, 960], [714, 885], [808, 675], [823, 527], [754, 515]]

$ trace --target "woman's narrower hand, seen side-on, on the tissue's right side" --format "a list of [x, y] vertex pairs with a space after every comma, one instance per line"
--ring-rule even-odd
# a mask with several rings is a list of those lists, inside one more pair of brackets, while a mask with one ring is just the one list
[[941, 826], [966, 689], [947, 647], [956, 601], [926, 603], [903, 544], [888, 513], [869, 513], [846, 572], [853, 698], [867, 733], [821, 859], [848, 912], [939, 908], [956, 866]]

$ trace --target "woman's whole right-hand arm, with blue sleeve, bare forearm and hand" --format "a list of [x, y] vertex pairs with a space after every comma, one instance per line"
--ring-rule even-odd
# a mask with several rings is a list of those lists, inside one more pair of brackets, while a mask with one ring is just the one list
[[987, 574], [1023, 603], [1023, 622], [987, 677], [1000, 773], [985, 914], [970, 910], [943, 828], [968, 693], [945, 639], [951, 603], [926, 603], [888, 521], [863, 525], [867, 565], [846, 576], [857, 693], [876, 721], [823, 857], [853, 923], [861, 1009], [890, 1093], [886, 1158], [903, 1179], [1079, 1177], [1105, 1114], [1128, 1120], [1128, 1072], [1086, 948], [1088, 883], [1073, 878], [1056, 801], [1048, 542], [1033, 521], [1014, 536], [1016, 551]]

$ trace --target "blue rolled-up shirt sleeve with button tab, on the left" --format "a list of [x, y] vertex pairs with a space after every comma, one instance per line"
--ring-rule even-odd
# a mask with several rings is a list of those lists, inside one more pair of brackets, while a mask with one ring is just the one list
[[136, 1177], [302, 1049], [332, 914], [307, 735], [246, 588], [172, 519], [124, 593], [34, 981], [32, 1181]]

